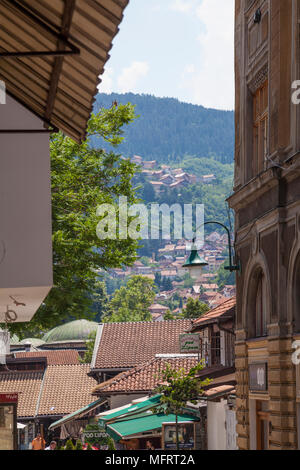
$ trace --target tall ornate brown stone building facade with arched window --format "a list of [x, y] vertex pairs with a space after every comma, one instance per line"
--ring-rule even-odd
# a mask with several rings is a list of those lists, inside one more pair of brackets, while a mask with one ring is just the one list
[[298, 0], [236, 0], [236, 379], [240, 449], [297, 449]]

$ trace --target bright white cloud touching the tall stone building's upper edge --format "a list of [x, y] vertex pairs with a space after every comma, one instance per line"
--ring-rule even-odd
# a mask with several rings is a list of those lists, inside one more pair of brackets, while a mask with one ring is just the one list
[[195, 10], [201, 21], [199, 60], [185, 67], [181, 88], [192, 102], [234, 107], [234, 0], [203, 0]]

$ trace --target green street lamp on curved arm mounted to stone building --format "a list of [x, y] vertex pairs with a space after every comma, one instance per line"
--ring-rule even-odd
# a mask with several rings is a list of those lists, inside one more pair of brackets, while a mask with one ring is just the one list
[[[232, 263], [232, 245], [231, 245], [230, 232], [228, 228], [226, 227], [226, 225], [223, 225], [220, 222], [215, 222], [215, 221], [205, 222], [203, 226], [211, 225], [211, 224], [220, 225], [226, 230], [227, 235], [228, 235], [229, 266], [225, 267], [226, 271], [230, 271], [230, 272], [239, 271], [240, 265], [239, 264], [234, 265]], [[200, 227], [202, 227], [202, 225]], [[196, 231], [200, 227], [198, 227]], [[183, 265], [183, 267], [188, 269], [191, 277], [198, 279], [199, 276], [201, 276], [202, 274], [203, 267], [208, 266], [208, 263], [206, 263], [206, 261], [199, 256], [198, 250], [195, 246], [195, 241], [196, 241], [196, 238], [194, 238], [193, 240], [193, 248], [192, 248], [191, 254], [188, 257], [186, 263]]]

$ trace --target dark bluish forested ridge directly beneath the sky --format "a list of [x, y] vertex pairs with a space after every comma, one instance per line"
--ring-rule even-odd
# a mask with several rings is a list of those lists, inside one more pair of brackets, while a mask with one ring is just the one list
[[114, 101], [136, 105], [140, 116], [126, 129], [125, 140], [119, 147], [124, 156], [141, 155], [145, 160], [161, 163], [175, 163], [185, 155], [233, 162], [233, 111], [206, 109], [174, 98], [133, 93], [101, 93], [94, 109], [109, 108]]

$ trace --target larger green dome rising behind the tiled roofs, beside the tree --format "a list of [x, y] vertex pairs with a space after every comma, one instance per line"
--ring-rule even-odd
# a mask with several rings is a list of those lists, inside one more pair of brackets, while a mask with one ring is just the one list
[[91, 333], [97, 331], [98, 323], [88, 320], [75, 320], [56, 326], [43, 337], [46, 343], [85, 341]]

